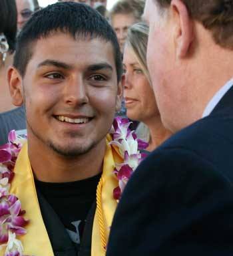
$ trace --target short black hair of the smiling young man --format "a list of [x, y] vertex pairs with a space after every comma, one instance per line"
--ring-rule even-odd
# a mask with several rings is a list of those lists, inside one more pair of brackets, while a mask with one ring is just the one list
[[69, 33], [75, 39], [100, 38], [113, 45], [117, 80], [122, 76], [120, 47], [115, 31], [109, 22], [93, 8], [82, 3], [55, 3], [33, 14], [24, 25], [17, 39], [13, 66], [25, 75], [27, 64], [33, 55], [33, 43], [55, 31]]

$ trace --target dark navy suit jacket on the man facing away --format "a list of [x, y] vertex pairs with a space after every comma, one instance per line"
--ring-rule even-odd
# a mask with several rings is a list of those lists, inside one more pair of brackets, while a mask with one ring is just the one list
[[233, 255], [233, 88], [135, 170], [107, 256]]

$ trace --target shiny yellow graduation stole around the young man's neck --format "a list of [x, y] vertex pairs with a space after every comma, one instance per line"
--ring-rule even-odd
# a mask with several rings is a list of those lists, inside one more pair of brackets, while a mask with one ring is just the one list
[[[109, 239], [109, 232], [113, 215], [116, 209], [116, 200], [113, 190], [118, 186], [118, 180], [113, 174], [115, 163], [122, 162], [117, 148], [110, 146], [111, 136], [107, 136], [106, 152], [103, 162], [103, 174], [97, 188], [97, 210], [93, 223], [92, 256], [104, 256], [105, 247]], [[26, 226], [27, 234], [17, 237], [23, 243], [24, 255], [54, 256], [51, 243], [37, 199], [37, 191], [33, 178], [33, 171], [27, 153], [27, 143], [21, 149], [15, 164], [15, 176], [11, 183], [10, 193], [16, 195], [21, 201], [21, 208], [26, 211], [25, 219], [29, 219]], [[0, 250], [3, 256], [5, 248]]]

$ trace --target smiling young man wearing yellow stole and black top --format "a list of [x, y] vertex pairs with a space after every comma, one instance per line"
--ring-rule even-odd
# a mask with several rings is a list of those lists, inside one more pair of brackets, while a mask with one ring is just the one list
[[107, 134], [121, 72], [115, 32], [87, 5], [49, 5], [23, 27], [8, 73], [13, 103], [27, 113], [11, 186], [29, 219], [23, 255], [105, 255], [120, 161]]

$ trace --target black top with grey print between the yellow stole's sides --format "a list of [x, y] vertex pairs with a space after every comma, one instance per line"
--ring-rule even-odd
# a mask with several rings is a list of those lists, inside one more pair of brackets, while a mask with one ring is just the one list
[[[41, 213], [54, 252], [63, 250], [61, 245], [59, 245], [61, 249], [55, 248], [55, 244], [59, 240], [64, 241], [62, 237], [57, 237], [57, 233], [62, 235], [65, 231], [67, 234], [63, 235], [71, 241], [71, 249], [76, 251], [74, 255], [78, 255], [89, 212], [92, 206], [95, 205], [97, 184], [100, 178], [101, 174], [75, 182], [51, 183], [35, 181]], [[48, 215], [49, 210], [53, 213], [53, 221], [57, 220], [60, 227], [56, 223], [53, 225], [53, 221], [50, 219], [51, 214]], [[93, 210], [95, 212], [95, 207], [93, 207]], [[68, 255], [73, 254], [68, 253]]]

